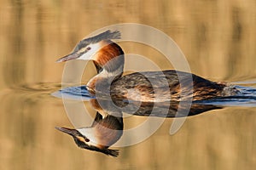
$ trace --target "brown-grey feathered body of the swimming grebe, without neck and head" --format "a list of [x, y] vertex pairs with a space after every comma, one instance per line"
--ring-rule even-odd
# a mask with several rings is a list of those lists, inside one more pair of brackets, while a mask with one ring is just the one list
[[[135, 72], [115, 80], [111, 85], [114, 98], [142, 101], [201, 100], [223, 96], [226, 86], [183, 71]], [[171, 98], [170, 98], [171, 95]]]

